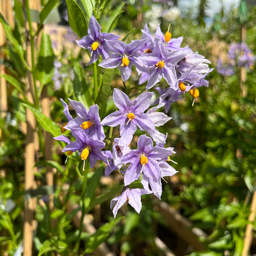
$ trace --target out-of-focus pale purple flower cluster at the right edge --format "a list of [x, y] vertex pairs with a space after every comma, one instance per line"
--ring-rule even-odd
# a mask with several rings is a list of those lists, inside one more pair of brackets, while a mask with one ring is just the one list
[[232, 43], [228, 51], [228, 61], [221, 59], [217, 62], [217, 71], [223, 76], [232, 76], [236, 67], [254, 68], [255, 56], [246, 43]]

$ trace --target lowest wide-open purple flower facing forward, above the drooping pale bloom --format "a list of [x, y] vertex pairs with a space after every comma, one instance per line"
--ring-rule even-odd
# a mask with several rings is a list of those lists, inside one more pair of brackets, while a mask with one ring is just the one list
[[125, 185], [129, 185], [139, 176], [148, 177], [151, 183], [161, 184], [161, 171], [159, 160], [167, 160], [172, 153], [170, 148], [153, 147], [152, 139], [146, 135], [141, 135], [138, 139], [138, 149], [131, 150], [122, 157], [122, 163], [131, 163], [125, 172]]

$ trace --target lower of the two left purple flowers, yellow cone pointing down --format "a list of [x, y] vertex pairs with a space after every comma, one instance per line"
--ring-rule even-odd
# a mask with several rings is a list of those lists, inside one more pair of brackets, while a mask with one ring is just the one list
[[105, 146], [104, 142], [99, 141], [95, 137], [89, 138], [88, 135], [86, 135], [82, 130], [75, 130], [75, 132], [72, 134], [76, 138], [76, 141], [65, 146], [63, 148], [63, 152], [67, 152], [69, 150], [75, 152], [78, 150], [84, 164], [85, 160], [89, 156], [90, 168], [93, 168], [96, 161], [100, 159], [108, 164], [108, 158], [101, 151], [101, 149]]

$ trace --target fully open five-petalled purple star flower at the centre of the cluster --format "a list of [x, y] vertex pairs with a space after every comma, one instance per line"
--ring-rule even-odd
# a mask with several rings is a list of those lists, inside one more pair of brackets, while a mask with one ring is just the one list
[[155, 131], [154, 123], [144, 113], [150, 106], [152, 95], [152, 92], [144, 92], [134, 101], [130, 101], [125, 93], [115, 88], [113, 101], [119, 110], [105, 117], [101, 124], [112, 127], [120, 125], [121, 138], [125, 139], [127, 144], [133, 139], [137, 126], [142, 131], [150, 129]]

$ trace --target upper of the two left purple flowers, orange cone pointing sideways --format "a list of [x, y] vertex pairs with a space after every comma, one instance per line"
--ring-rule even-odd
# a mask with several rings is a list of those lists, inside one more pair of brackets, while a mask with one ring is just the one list
[[72, 101], [73, 109], [75, 109], [78, 117], [72, 119], [65, 126], [65, 129], [82, 129], [89, 137], [96, 136], [101, 141], [104, 140], [105, 134], [103, 126], [101, 125], [100, 115], [98, 114], [98, 106], [93, 105], [89, 107], [89, 111], [85, 108], [81, 102]]

